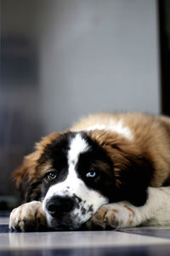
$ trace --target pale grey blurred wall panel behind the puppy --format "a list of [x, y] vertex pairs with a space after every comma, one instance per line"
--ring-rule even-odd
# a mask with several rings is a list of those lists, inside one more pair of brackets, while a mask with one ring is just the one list
[[47, 131], [99, 111], [159, 113], [156, 1], [51, 3], [39, 16]]

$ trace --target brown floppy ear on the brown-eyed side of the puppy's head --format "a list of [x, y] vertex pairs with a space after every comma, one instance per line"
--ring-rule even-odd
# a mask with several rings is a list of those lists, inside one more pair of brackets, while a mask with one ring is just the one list
[[59, 132], [53, 132], [48, 137], [43, 137], [40, 143], [36, 143], [36, 150], [26, 155], [23, 164], [12, 173], [21, 201], [40, 200], [42, 182], [41, 173], [37, 173], [38, 160], [48, 144], [53, 143], [58, 136]]

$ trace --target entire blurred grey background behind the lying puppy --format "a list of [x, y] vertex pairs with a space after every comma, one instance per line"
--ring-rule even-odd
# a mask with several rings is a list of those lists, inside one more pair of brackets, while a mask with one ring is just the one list
[[35, 142], [100, 111], [170, 113], [170, 1], [1, 0], [0, 209]]

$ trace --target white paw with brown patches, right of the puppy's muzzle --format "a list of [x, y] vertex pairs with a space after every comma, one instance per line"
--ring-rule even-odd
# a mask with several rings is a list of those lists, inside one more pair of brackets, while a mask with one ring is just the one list
[[136, 223], [134, 207], [124, 203], [113, 203], [100, 207], [98, 212], [88, 220], [88, 230], [94, 229], [120, 229], [133, 227]]

